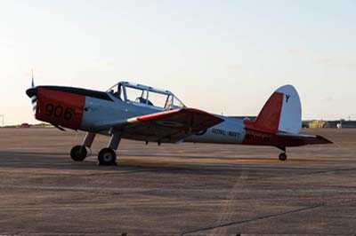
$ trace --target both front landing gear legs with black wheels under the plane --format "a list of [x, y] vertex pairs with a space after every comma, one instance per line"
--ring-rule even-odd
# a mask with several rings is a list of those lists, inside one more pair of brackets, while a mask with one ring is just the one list
[[[98, 154], [98, 165], [110, 166], [117, 165], [117, 154], [114, 150], [117, 150], [117, 146], [120, 143], [120, 135], [116, 130], [110, 130], [111, 138], [109, 141], [109, 147], [101, 149]], [[70, 157], [73, 161], [84, 161], [87, 156], [86, 147], [90, 148], [95, 138], [95, 133], [86, 133], [82, 146], [73, 146], [70, 151]]]

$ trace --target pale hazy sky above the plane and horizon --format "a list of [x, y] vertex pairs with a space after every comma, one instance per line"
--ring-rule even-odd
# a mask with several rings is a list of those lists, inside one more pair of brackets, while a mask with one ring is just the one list
[[132, 81], [187, 106], [258, 114], [291, 83], [303, 119], [356, 119], [356, 1], [1, 1], [0, 114], [35, 122], [36, 85]]

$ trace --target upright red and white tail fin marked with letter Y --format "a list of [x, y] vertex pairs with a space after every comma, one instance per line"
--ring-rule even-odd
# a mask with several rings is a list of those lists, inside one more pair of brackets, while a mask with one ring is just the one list
[[258, 130], [299, 133], [302, 130], [302, 106], [292, 85], [276, 90], [251, 125]]

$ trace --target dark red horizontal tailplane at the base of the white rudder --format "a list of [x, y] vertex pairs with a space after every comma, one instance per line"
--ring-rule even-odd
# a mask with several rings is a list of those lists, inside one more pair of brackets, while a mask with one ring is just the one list
[[291, 134], [291, 133], [277, 133], [277, 138], [283, 140], [287, 144], [297, 144], [300, 145], [323, 145], [323, 144], [333, 144], [327, 138], [321, 137], [319, 135], [304, 135], [304, 134]]

